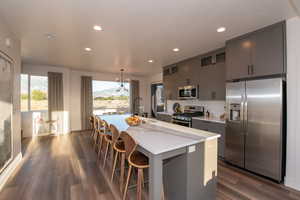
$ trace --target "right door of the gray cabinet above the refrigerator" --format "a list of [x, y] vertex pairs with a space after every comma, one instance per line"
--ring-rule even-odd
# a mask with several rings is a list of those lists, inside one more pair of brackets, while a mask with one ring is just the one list
[[252, 76], [284, 72], [284, 27], [276, 24], [253, 35]]

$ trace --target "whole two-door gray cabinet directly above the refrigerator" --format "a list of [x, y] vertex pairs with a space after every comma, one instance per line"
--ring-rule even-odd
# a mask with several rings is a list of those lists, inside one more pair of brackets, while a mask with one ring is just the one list
[[285, 73], [285, 22], [226, 42], [226, 80]]

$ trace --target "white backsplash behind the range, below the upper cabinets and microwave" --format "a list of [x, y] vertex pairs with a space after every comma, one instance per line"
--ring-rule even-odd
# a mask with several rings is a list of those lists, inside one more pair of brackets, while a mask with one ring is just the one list
[[166, 112], [173, 113], [173, 104], [179, 103], [181, 107], [204, 106], [205, 112], [208, 110], [213, 117], [219, 117], [225, 113], [225, 101], [200, 101], [200, 100], [168, 100]]

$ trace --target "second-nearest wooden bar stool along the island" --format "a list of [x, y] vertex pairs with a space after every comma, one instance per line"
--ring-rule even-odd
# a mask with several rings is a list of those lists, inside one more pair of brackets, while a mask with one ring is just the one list
[[[112, 131], [112, 133], [114, 134], [114, 131]], [[119, 133], [118, 133], [119, 134]], [[118, 157], [120, 157], [120, 191], [123, 191], [123, 184], [124, 184], [124, 175], [125, 175], [125, 145], [124, 145], [124, 141], [118, 137], [118, 139], [115, 141], [114, 143], [114, 150], [115, 150], [115, 158], [114, 158], [114, 165], [113, 165], [113, 170], [112, 170], [112, 174], [111, 174], [111, 182], [113, 182], [114, 179], [114, 174], [115, 174], [115, 170], [116, 170], [116, 166], [117, 166], [117, 160]]]

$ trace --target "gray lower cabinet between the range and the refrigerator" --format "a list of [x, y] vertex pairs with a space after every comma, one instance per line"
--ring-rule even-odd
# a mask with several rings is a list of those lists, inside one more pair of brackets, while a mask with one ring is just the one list
[[209, 131], [220, 134], [221, 137], [218, 139], [218, 156], [224, 158], [225, 151], [225, 124], [210, 122], [204, 120], [193, 119], [192, 128]]

